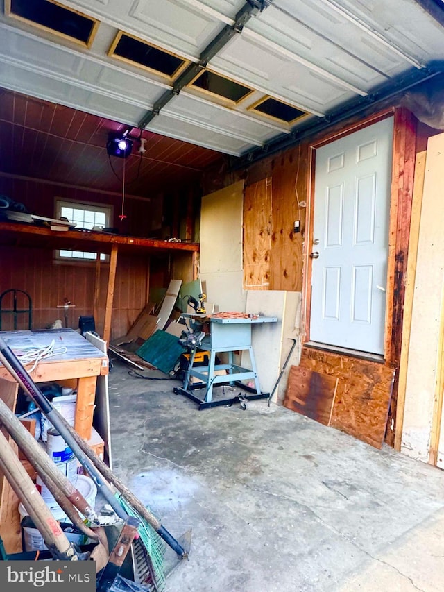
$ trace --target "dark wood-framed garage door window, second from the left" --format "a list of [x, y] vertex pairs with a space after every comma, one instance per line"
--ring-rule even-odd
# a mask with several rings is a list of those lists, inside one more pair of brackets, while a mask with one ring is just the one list
[[167, 76], [170, 80], [189, 63], [173, 53], [137, 39], [133, 35], [123, 33], [123, 31], [117, 33], [110, 51], [108, 51], [108, 56], [157, 72], [157, 74]]

